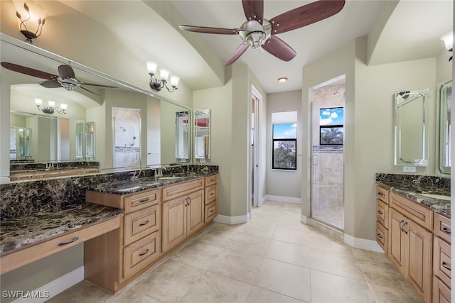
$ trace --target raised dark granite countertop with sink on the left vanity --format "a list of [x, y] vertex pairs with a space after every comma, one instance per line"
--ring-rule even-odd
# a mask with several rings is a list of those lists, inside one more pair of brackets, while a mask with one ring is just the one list
[[124, 180], [117, 182], [109, 182], [97, 184], [94, 187], [87, 189], [95, 192], [105, 192], [109, 194], [132, 194], [145, 189], [166, 186], [178, 182], [198, 179], [200, 177], [208, 177], [215, 175], [214, 172], [191, 172], [174, 175], [164, 175], [162, 177], [140, 177], [134, 180]]

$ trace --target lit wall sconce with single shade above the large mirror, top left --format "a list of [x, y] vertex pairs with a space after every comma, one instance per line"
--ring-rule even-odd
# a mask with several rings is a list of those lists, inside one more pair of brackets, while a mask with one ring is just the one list
[[[21, 33], [27, 38], [26, 41], [32, 43], [32, 39], [36, 39], [41, 35], [41, 31], [43, 31], [43, 26], [45, 23], [45, 17], [48, 16], [48, 13], [45, 11], [44, 7], [41, 4], [36, 4], [34, 2], [29, 2], [28, 5], [24, 2], [23, 9], [25, 10], [23, 13], [28, 15], [27, 18], [22, 19], [21, 13], [16, 11], [16, 16], [19, 18], [21, 23], [19, 24], [19, 29]], [[26, 24], [27, 21], [28, 24]], [[36, 23], [36, 31], [33, 32], [29, 31], [29, 28], [35, 29], [33, 23]]]

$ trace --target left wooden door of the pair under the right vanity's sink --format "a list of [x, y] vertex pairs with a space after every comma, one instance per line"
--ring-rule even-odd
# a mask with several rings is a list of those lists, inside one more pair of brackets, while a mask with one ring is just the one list
[[389, 211], [389, 258], [393, 264], [406, 276], [406, 250], [407, 238], [402, 232], [401, 226], [405, 222], [405, 216], [400, 214], [395, 209]]

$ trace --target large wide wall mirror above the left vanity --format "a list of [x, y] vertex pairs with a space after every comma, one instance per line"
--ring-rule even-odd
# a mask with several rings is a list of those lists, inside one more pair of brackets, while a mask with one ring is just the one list
[[[183, 138], [177, 138], [176, 113], [185, 112], [188, 123], [192, 121], [191, 109], [4, 34], [0, 48], [1, 62], [27, 68], [17, 72], [1, 67], [1, 111], [10, 112], [10, 129], [2, 130], [5, 133], [1, 136], [2, 163], [7, 162], [6, 157], [30, 162], [90, 160], [100, 162], [100, 172], [110, 172], [190, 162], [191, 140], [181, 144]], [[28, 70], [59, 75], [60, 65], [69, 65], [79, 82], [97, 85], [82, 84], [68, 90], [45, 76], [33, 77], [36, 72]], [[54, 104], [53, 113], [45, 110], [50, 104]], [[114, 108], [124, 108], [125, 113], [137, 110], [139, 125], [133, 128], [125, 122], [114, 123]], [[132, 151], [122, 156], [137, 158], [134, 167], [130, 161], [119, 161], [115, 153], [115, 133], [119, 131], [129, 140], [117, 140], [122, 151]], [[188, 128], [188, 138], [191, 133]], [[176, 155], [176, 148], [186, 156]], [[119, 167], [118, 163], [124, 165]], [[2, 180], [10, 173], [6, 166], [0, 167]]]

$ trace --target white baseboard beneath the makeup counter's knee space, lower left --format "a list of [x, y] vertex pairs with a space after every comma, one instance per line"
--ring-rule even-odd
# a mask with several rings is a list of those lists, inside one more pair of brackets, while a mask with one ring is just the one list
[[84, 267], [76, 268], [72, 272], [68, 272], [66, 275], [58, 277], [57, 279], [49, 282], [46, 285], [39, 287], [37, 290], [33, 290], [34, 294], [49, 294], [47, 298], [19, 298], [13, 303], [41, 303], [55, 297], [60, 292], [68, 290], [68, 288], [76, 285], [80, 281], [84, 280]]

